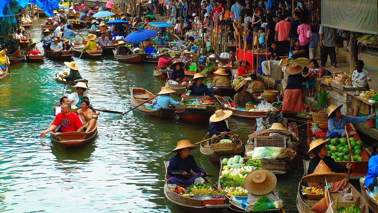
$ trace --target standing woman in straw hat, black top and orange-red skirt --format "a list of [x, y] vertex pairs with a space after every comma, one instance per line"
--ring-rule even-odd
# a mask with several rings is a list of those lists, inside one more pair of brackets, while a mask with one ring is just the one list
[[302, 112], [304, 110], [302, 82], [310, 79], [310, 76], [304, 77], [301, 72], [303, 67], [290, 63], [285, 68], [287, 77], [287, 86], [283, 96], [283, 111]]

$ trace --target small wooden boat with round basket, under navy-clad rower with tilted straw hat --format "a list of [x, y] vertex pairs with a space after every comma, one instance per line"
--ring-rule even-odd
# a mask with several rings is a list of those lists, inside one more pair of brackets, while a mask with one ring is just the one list
[[[206, 140], [209, 138], [209, 133], [203, 138]], [[204, 141], [200, 145], [200, 152], [205, 155], [211, 162], [219, 162], [220, 156], [225, 155], [241, 155], [244, 154], [244, 146], [242, 140], [239, 139], [239, 143], [236, 147], [218, 147], [218, 148], [211, 148], [210, 147], [210, 140]]]

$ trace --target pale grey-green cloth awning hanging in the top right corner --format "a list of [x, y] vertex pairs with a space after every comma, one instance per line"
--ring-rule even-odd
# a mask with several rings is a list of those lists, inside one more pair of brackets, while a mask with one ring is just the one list
[[376, 0], [321, 1], [322, 25], [359, 33], [377, 34]]

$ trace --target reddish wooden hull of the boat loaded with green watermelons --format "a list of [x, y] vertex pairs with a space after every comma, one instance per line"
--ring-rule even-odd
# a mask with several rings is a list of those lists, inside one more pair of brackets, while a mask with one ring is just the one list
[[[313, 135], [311, 132], [311, 127], [313, 124], [316, 124], [314, 121], [308, 121], [307, 123], [307, 148], [310, 147], [310, 143], [313, 140]], [[327, 132], [328, 131], [328, 125], [327, 124], [319, 124], [320, 128], [322, 129], [322, 132]], [[347, 130], [348, 132], [357, 132], [353, 124], [347, 123]], [[350, 134], [349, 134], [350, 135]], [[352, 137], [352, 136], [351, 136]], [[362, 141], [361, 138], [359, 137], [358, 133], [353, 135], [354, 138], [356, 138], [356, 141]], [[360, 177], [366, 176], [367, 169], [368, 169], [368, 163], [369, 159], [371, 157], [370, 153], [366, 151], [365, 145], [363, 145], [362, 148], [362, 161], [352, 161], [352, 173], [350, 173], [350, 178], [351, 179], [359, 179]], [[347, 161], [338, 161], [337, 163], [341, 165], [346, 165], [348, 162]]]

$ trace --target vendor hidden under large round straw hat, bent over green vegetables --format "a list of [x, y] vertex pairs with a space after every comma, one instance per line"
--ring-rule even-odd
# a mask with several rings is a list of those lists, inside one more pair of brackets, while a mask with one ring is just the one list
[[266, 196], [271, 202], [276, 202], [276, 208], [282, 208], [283, 201], [279, 193], [275, 191], [277, 177], [266, 169], [256, 169], [249, 173], [244, 179], [244, 188], [249, 192], [246, 201], [246, 210], [251, 211], [257, 200]]

